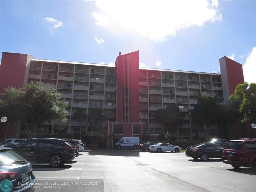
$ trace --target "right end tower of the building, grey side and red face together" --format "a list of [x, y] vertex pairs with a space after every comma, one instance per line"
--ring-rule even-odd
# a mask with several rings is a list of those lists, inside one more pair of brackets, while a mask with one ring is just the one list
[[224, 56], [220, 59], [220, 72], [224, 104], [227, 104], [228, 97], [235, 92], [236, 86], [244, 83], [243, 65]]

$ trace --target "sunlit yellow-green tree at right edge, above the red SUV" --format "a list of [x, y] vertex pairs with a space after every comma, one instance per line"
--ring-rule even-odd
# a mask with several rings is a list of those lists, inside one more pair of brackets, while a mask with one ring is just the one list
[[[244, 133], [244, 123], [256, 123], [256, 83], [244, 82], [236, 86], [234, 94], [229, 96], [231, 105], [239, 113], [239, 121]], [[253, 131], [255, 134], [255, 130]]]

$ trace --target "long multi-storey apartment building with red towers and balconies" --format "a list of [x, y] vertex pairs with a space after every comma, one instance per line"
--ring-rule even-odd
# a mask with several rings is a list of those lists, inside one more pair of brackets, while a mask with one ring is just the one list
[[[88, 120], [82, 122], [82, 127], [91, 141], [97, 135], [107, 140], [108, 147], [123, 136], [141, 137], [146, 133], [150, 139], [159, 139], [166, 130], [154, 114], [157, 109], [171, 105], [179, 106], [184, 119], [184, 124], [175, 131], [175, 140], [200, 140], [205, 134], [204, 127], [192, 124], [189, 118], [189, 109], [195, 107], [198, 96], [216, 94], [221, 102], [227, 103], [236, 85], [244, 82], [242, 65], [227, 57], [220, 59], [221, 72], [215, 74], [140, 68], [139, 51], [124, 55], [119, 52], [115, 65], [2, 53], [0, 92], [7, 86], [23, 87], [29, 81], [40, 81], [42, 86], [55, 88], [66, 99], [68, 122], [45, 122], [38, 127], [36, 137], [50, 137], [54, 128], [77, 137], [80, 133], [80, 122], [74, 116], [77, 108], [84, 108], [87, 114], [94, 108], [101, 108], [105, 120], [97, 132]], [[13, 123], [9, 130], [8, 137], [27, 135], [20, 123]], [[226, 134], [226, 129], [212, 125], [210, 134], [220, 135], [220, 132]]]

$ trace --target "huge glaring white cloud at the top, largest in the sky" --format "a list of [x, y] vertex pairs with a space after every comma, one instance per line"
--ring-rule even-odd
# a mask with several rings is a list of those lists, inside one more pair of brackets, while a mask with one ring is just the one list
[[180, 29], [222, 20], [217, 0], [96, 0], [96, 6], [99, 11], [92, 12], [95, 25], [160, 42], [166, 36], [176, 35]]

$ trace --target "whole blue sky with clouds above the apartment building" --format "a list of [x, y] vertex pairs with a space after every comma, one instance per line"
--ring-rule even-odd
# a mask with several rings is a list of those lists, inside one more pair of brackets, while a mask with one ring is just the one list
[[256, 82], [256, 0], [0, 1], [0, 51], [113, 65], [220, 71], [227, 56]]

